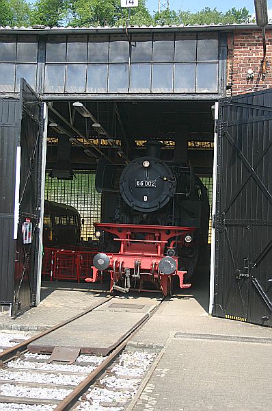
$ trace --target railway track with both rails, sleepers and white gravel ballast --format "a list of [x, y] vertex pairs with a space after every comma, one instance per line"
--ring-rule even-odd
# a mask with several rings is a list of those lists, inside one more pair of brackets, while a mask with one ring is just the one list
[[[114, 297], [109, 297], [113, 299]], [[100, 303], [87, 312], [103, 306]], [[159, 308], [161, 301], [150, 312]], [[52, 327], [14, 347], [0, 352], [0, 410], [114, 410], [120, 411], [131, 401], [156, 353], [124, 351], [144, 319], [106, 357], [80, 355], [75, 362], [50, 362], [50, 356], [30, 353], [29, 343], [55, 329], [62, 329], [72, 319]], [[91, 388], [90, 388], [91, 387]]]

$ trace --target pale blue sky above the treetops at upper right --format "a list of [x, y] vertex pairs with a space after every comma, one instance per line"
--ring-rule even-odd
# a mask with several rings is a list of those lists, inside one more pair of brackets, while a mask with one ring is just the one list
[[[161, 3], [167, 0], [161, 0]], [[146, 5], [150, 12], [158, 10], [159, 0], [146, 0]], [[169, 0], [170, 8], [172, 10], [191, 10], [191, 12], [197, 12], [205, 7], [217, 8], [220, 12], [226, 12], [230, 8], [236, 9], [247, 8], [249, 12], [254, 13], [254, 0], [230, 0], [230, 1], [218, 1], [218, 0]], [[272, 15], [272, 0], [267, 0], [267, 8], [269, 9], [269, 16]]]

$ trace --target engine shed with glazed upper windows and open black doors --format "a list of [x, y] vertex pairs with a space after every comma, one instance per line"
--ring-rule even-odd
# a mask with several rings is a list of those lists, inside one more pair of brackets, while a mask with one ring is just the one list
[[77, 208], [92, 242], [105, 166], [160, 142], [208, 192], [209, 313], [271, 326], [271, 26], [0, 33], [1, 307], [40, 301], [44, 200]]

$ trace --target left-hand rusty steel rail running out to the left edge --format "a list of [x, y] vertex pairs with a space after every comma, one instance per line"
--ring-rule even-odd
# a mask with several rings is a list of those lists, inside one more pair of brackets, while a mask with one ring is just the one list
[[54, 325], [53, 327], [51, 327], [49, 329], [46, 329], [45, 331], [41, 332], [40, 334], [35, 335], [35, 336], [29, 338], [28, 340], [24, 340], [20, 344], [14, 345], [14, 347], [10, 347], [8, 349], [5, 349], [5, 351], [0, 353], [0, 365], [3, 364], [4, 362], [8, 362], [8, 361], [12, 360], [12, 358], [14, 358], [15, 356], [18, 356], [18, 352], [22, 353], [23, 351], [27, 351], [27, 345], [29, 345], [33, 341], [38, 340], [38, 338], [41, 338], [43, 336], [46, 336], [46, 334], [50, 334], [51, 332], [55, 331], [55, 329], [61, 328], [66, 324], [72, 323], [72, 321], [79, 319], [81, 316], [84, 316], [85, 314], [88, 314], [89, 312], [91, 312], [95, 308], [103, 306], [103, 304], [105, 304], [109, 300], [113, 299], [113, 297], [114, 296], [111, 295], [110, 297], [108, 297], [106, 299], [106, 301], [102, 301], [102, 302], [96, 304], [96, 306], [85, 310], [81, 314], [77, 314], [75, 316], [72, 316], [72, 317], [70, 317], [70, 319], [62, 321], [62, 323]]

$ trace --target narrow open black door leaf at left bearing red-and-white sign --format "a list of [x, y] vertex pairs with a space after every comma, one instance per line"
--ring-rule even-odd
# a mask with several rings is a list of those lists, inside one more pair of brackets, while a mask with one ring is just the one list
[[[24, 95], [26, 96], [26, 100], [24, 99]], [[17, 261], [14, 271], [14, 301], [12, 303], [12, 316], [14, 317], [18, 313], [28, 310], [31, 306], [36, 306], [40, 301], [42, 209], [44, 196], [44, 187], [42, 187], [42, 185], [44, 186], [47, 132], [47, 129], [44, 127], [47, 118], [46, 104], [42, 103], [23, 78], [21, 79], [20, 101], [21, 124], [16, 149], [14, 196], [13, 238], [16, 244], [15, 260]], [[23, 121], [23, 119], [25, 120]], [[34, 123], [36, 123], [36, 129], [35, 126], [33, 126]], [[22, 127], [26, 128], [23, 129]], [[27, 127], [29, 127], [29, 130]], [[29, 132], [31, 133], [29, 134], [31, 137], [28, 140], [26, 136]], [[24, 147], [24, 150], [22, 147]], [[22, 162], [22, 160], [24, 162]], [[24, 164], [24, 169], [22, 169], [22, 164]], [[38, 191], [36, 192], [36, 190]], [[29, 197], [25, 197], [26, 195], [33, 195], [33, 201], [30, 200], [29, 202], [29, 200], [27, 200]], [[21, 204], [23, 210], [21, 210]], [[24, 244], [25, 241], [23, 242], [22, 239], [21, 226], [23, 227], [24, 221], [31, 221], [31, 223], [33, 223], [33, 234], [29, 244]], [[27, 286], [26, 284], [29, 285]], [[23, 294], [21, 294], [22, 292]], [[29, 300], [27, 297], [28, 293]], [[22, 307], [21, 302], [23, 302]]]

